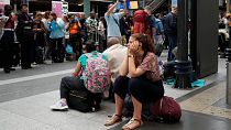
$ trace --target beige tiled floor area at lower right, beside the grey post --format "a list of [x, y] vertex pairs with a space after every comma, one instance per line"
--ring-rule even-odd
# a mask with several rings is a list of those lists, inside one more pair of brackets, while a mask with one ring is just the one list
[[226, 82], [222, 82], [216, 87], [182, 101], [180, 106], [184, 110], [231, 119], [231, 109], [218, 105], [215, 106], [216, 102], [226, 98]]

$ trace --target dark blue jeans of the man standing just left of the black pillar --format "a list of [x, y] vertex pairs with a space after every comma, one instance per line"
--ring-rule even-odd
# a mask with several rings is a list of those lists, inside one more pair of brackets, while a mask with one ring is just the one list
[[167, 35], [168, 37], [168, 55], [167, 61], [174, 61], [175, 56], [173, 54], [173, 50], [177, 46], [177, 36], [176, 35]]

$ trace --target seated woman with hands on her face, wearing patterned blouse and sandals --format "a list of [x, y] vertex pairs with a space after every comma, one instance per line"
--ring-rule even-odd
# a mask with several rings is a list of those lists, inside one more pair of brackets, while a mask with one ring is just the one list
[[122, 129], [133, 130], [143, 123], [142, 104], [155, 101], [164, 96], [158, 69], [157, 57], [150, 37], [145, 34], [131, 35], [128, 55], [120, 67], [120, 76], [114, 82], [116, 111], [105, 126], [122, 120], [122, 106], [127, 94], [132, 97], [134, 111], [132, 119]]

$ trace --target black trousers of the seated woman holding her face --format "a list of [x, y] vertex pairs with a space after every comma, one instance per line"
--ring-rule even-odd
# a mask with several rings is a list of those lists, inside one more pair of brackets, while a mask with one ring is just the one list
[[123, 100], [127, 94], [129, 94], [144, 104], [162, 98], [164, 96], [164, 86], [162, 80], [153, 83], [143, 77], [129, 78], [120, 76], [114, 82], [113, 91]]

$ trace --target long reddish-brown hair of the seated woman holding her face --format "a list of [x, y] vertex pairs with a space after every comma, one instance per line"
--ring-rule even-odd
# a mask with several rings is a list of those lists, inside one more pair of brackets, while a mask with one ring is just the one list
[[141, 34], [141, 33], [135, 33], [131, 35], [132, 37], [134, 37], [135, 40], [138, 40], [139, 42], [141, 42], [142, 44], [142, 50], [147, 53], [147, 52], [152, 52], [154, 53], [154, 44], [150, 37], [150, 35], [146, 34]]

